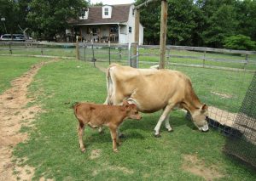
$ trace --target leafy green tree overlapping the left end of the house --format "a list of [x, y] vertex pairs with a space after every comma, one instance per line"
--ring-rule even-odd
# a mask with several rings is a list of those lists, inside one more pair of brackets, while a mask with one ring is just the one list
[[67, 20], [77, 19], [81, 8], [86, 6], [84, 0], [32, 0], [27, 21], [37, 37], [52, 40], [56, 35], [63, 36]]

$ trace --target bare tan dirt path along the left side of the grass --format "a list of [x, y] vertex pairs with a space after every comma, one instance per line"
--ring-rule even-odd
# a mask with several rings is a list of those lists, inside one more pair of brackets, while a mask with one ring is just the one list
[[16, 144], [27, 139], [27, 133], [19, 133], [20, 128], [31, 126], [32, 119], [41, 111], [39, 105], [25, 107], [33, 101], [27, 98], [27, 89], [33, 76], [49, 62], [53, 60], [33, 65], [24, 75], [11, 82], [12, 88], [0, 95], [0, 180], [32, 180], [34, 168], [17, 166], [12, 161], [12, 151]]

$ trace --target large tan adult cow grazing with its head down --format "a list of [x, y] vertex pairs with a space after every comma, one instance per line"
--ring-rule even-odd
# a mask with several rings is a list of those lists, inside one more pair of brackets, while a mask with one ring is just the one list
[[154, 127], [155, 136], [160, 136], [162, 122], [168, 131], [172, 131], [169, 113], [175, 107], [189, 111], [199, 130], [208, 130], [207, 105], [201, 103], [189, 77], [180, 71], [135, 69], [113, 64], [108, 67], [107, 88], [105, 104], [120, 105], [125, 99], [144, 113], [162, 109], [163, 113]]

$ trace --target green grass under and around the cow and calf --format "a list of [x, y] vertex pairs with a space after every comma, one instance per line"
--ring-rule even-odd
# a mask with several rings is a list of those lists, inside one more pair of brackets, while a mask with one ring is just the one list
[[[190, 72], [193, 74], [193, 72]], [[198, 72], [195, 77], [203, 80]], [[205, 80], [206, 81], [206, 80]], [[200, 82], [200, 81], [199, 81]], [[38, 95], [44, 90], [44, 93]], [[76, 101], [103, 103], [106, 98], [105, 74], [81, 61], [61, 60], [42, 67], [30, 86], [30, 95], [38, 95], [35, 104], [42, 112], [29, 129], [30, 139], [15, 147], [15, 156], [26, 157], [20, 165], [35, 167], [34, 180], [41, 177], [55, 180], [203, 180], [183, 170], [183, 156], [193, 155], [215, 166], [224, 177], [220, 180], [253, 180], [256, 173], [223, 153], [224, 136], [218, 132], [201, 133], [174, 111], [171, 125], [174, 132], [162, 127], [160, 139], [153, 129], [160, 112], [143, 115], [142, 121], [126, 121], [119, 153], [113, 153], [108, 128], [99, 134], [85, 129], [87, 152], [79, 150], [77, 120], [70, 106]], [[24, 127], [23, 130], [27, 130]], [[93, 150], [100, 156], [90, 159]]]

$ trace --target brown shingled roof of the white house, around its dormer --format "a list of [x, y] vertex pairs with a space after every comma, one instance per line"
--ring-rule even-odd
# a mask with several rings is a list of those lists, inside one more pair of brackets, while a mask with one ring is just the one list
[[94, 24], [116, 24], [128, 21], [129, 11], [132, 4], [111, 5], [111, 18], [102, 19], [102, 6], [95, 6], [89, 8], [88, 19], [86, 20], [70, 20], [72, 25], [94, 25]]

